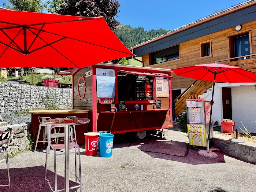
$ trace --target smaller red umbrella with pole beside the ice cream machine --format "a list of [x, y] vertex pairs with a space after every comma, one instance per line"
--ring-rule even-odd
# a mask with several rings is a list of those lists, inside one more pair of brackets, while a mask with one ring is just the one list
[[[213, 81], [213, 93], [211, 100], [210, 120], [212, 119], [213, 94], [215, 81], [226, 83], [256, 83], [256, 73], [239, 67], [224, 65], [220, 63], [210, 63], [203, 65], [192, 65], [188, 67], [172, 69], [178, 76], [189, 77], [198, 80]], [[210, 144], [209, 123], [207, 152]]]

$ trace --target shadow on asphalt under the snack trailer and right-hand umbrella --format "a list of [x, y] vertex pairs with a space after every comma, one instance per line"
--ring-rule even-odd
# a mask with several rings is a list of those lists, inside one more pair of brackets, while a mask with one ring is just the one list
[[146, 142], [138, 142], [130, 134], [116, 134], [114, 136], [113, 148], [138, 145], [139, 150], [154, 158], [179, 161], [193, 165], [225, 163], [224, 153], [221, 151], [216, 152], [218, 154], [217, 158], [211, 159], [198, 155], [198, 150], [191, 149], [189, 144], [185, 142], [171, 141], [153, 135], [150, 135]]

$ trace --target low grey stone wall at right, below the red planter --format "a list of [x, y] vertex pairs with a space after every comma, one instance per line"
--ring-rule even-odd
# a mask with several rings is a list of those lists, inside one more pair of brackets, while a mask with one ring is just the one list
[[233, 157], [256, 163], [256, 143], [255, 146], [230, 142], [221, 138], [214, 138], [214, 147]]

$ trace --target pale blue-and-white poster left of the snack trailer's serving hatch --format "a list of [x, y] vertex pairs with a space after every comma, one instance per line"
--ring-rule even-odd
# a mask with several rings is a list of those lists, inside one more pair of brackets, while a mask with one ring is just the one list
[[115, 97], [115, 70], [96, 68], [97, 98]]

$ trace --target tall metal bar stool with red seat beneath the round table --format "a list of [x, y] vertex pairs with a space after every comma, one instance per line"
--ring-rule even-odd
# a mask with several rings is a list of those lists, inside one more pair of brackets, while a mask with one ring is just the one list
[[[57, 164], [56, 164], [56, 156], [57, 155], [64, 155], [65, 153], [56, 153], [56, 150], [62, 150], [62, 149], [65, 149], [65, 144], [52, 144], [51, 143], [51, 139], [52, 138], [59, 138], [59, 137], [64, 137], [65, 136], [65, 133], [51, 133], [52, 129], [55, 128], [55, 127], [60, 127], [60, 126], [53, 126], [50, 128], [50, 130], [48, 130], [48, 133], [50, 133], [48, 135], [48, 146], [46, 148], [46, 160], [45, 160], [45, 179], [44, 179], [44, 189], [45, 189], [45, 183], [46, 181], [48, 182], [51, 190], [53, 192], [59, 192], [59, 191], [63, 191], [64, 189], [62, 190], [57, 190]], [[81, 159], [80, 159], [80, 147], [79, 145], [77, 145], [74, 141], [73, 141], [73, 130], [72, 130], [72, 127], [69, 126], [69, 130], [70, 130], [70, 133], [69, 133], [69, 137], [71, 137], [71, 142], [69, 143], [69, 148], [75, 148], [75, 152], [69, 152], [69, 154], [72, 154], [72, 153], [75, 153], [75, 178], [76, 178], [76, 182], [77, 180], [79, 181], [79, 185], [78, 186], [73, 186], [73, 187], [70, 187], [69, 189], [75, 189], [75, 188], [80, 188], [80, 191], [82, 191], [82, 182], [81, 182]], [[46, 179], [46, 173], [47, 173], [47, 160], [48, 160], [48, 153], [47, 151], [50, 150], [50, 148], [53, 149], [54, 151], [54, 183], [55, 183], [55, 190], [53, 190], [50, 182], [48, 179]], [[77, 148], [77, 151], [76, 151], [76, 148]], [[79, 162], [79, 178], [77, 177], [77, 171], [76, 171], [76, 153], [78, 153], [78, 162]]]

